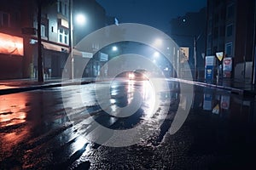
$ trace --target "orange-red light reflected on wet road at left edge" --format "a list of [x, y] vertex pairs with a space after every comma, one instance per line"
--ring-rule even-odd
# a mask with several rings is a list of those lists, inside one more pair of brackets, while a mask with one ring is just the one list
[[[26, 122], [29, 96], [26, 93], [9, 94], [0, 96], [0, 128], [21, 125]], [[0, 150], [3, 155], [13, 150], [17, 144], [28, 138], [29, 126], [19, 126], [17, 130], [8, 128], [8, 131], [0, 133]]]

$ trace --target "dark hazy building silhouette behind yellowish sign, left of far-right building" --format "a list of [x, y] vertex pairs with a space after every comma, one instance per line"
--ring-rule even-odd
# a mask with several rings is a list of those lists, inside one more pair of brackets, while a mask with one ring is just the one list
[[184, 69], [191, 69], [194, 72], [196, 64], [197, 77], [203, 77], [204, 59], [202, 56], [205, 53], [206, 18], [206, 8], [201, 8], [199, 12], [189, 12], [170, 21], [170, 37], [177, 42], [179, 47], [189, 48], [190, 68]]

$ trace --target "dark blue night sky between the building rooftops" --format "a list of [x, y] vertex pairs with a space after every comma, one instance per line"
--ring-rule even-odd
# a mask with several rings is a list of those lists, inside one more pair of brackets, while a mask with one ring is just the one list
[[168, 32], [169, 21], [187, 12], [198, 12], [207, 0], [96, 0], [119, 23], [139, 23]]

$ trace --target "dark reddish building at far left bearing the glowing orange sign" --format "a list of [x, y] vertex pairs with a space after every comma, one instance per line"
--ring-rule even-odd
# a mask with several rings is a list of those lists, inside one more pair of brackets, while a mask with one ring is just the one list
[[[11, 6], [9, 5], [11, 4]], [[24, 26], [20, 1], [11, 0], [0, 6], [0, 78], [23, 76], [26, 54], [21, 28]], [[20, 48], [17, 48], [20, 47]]]

